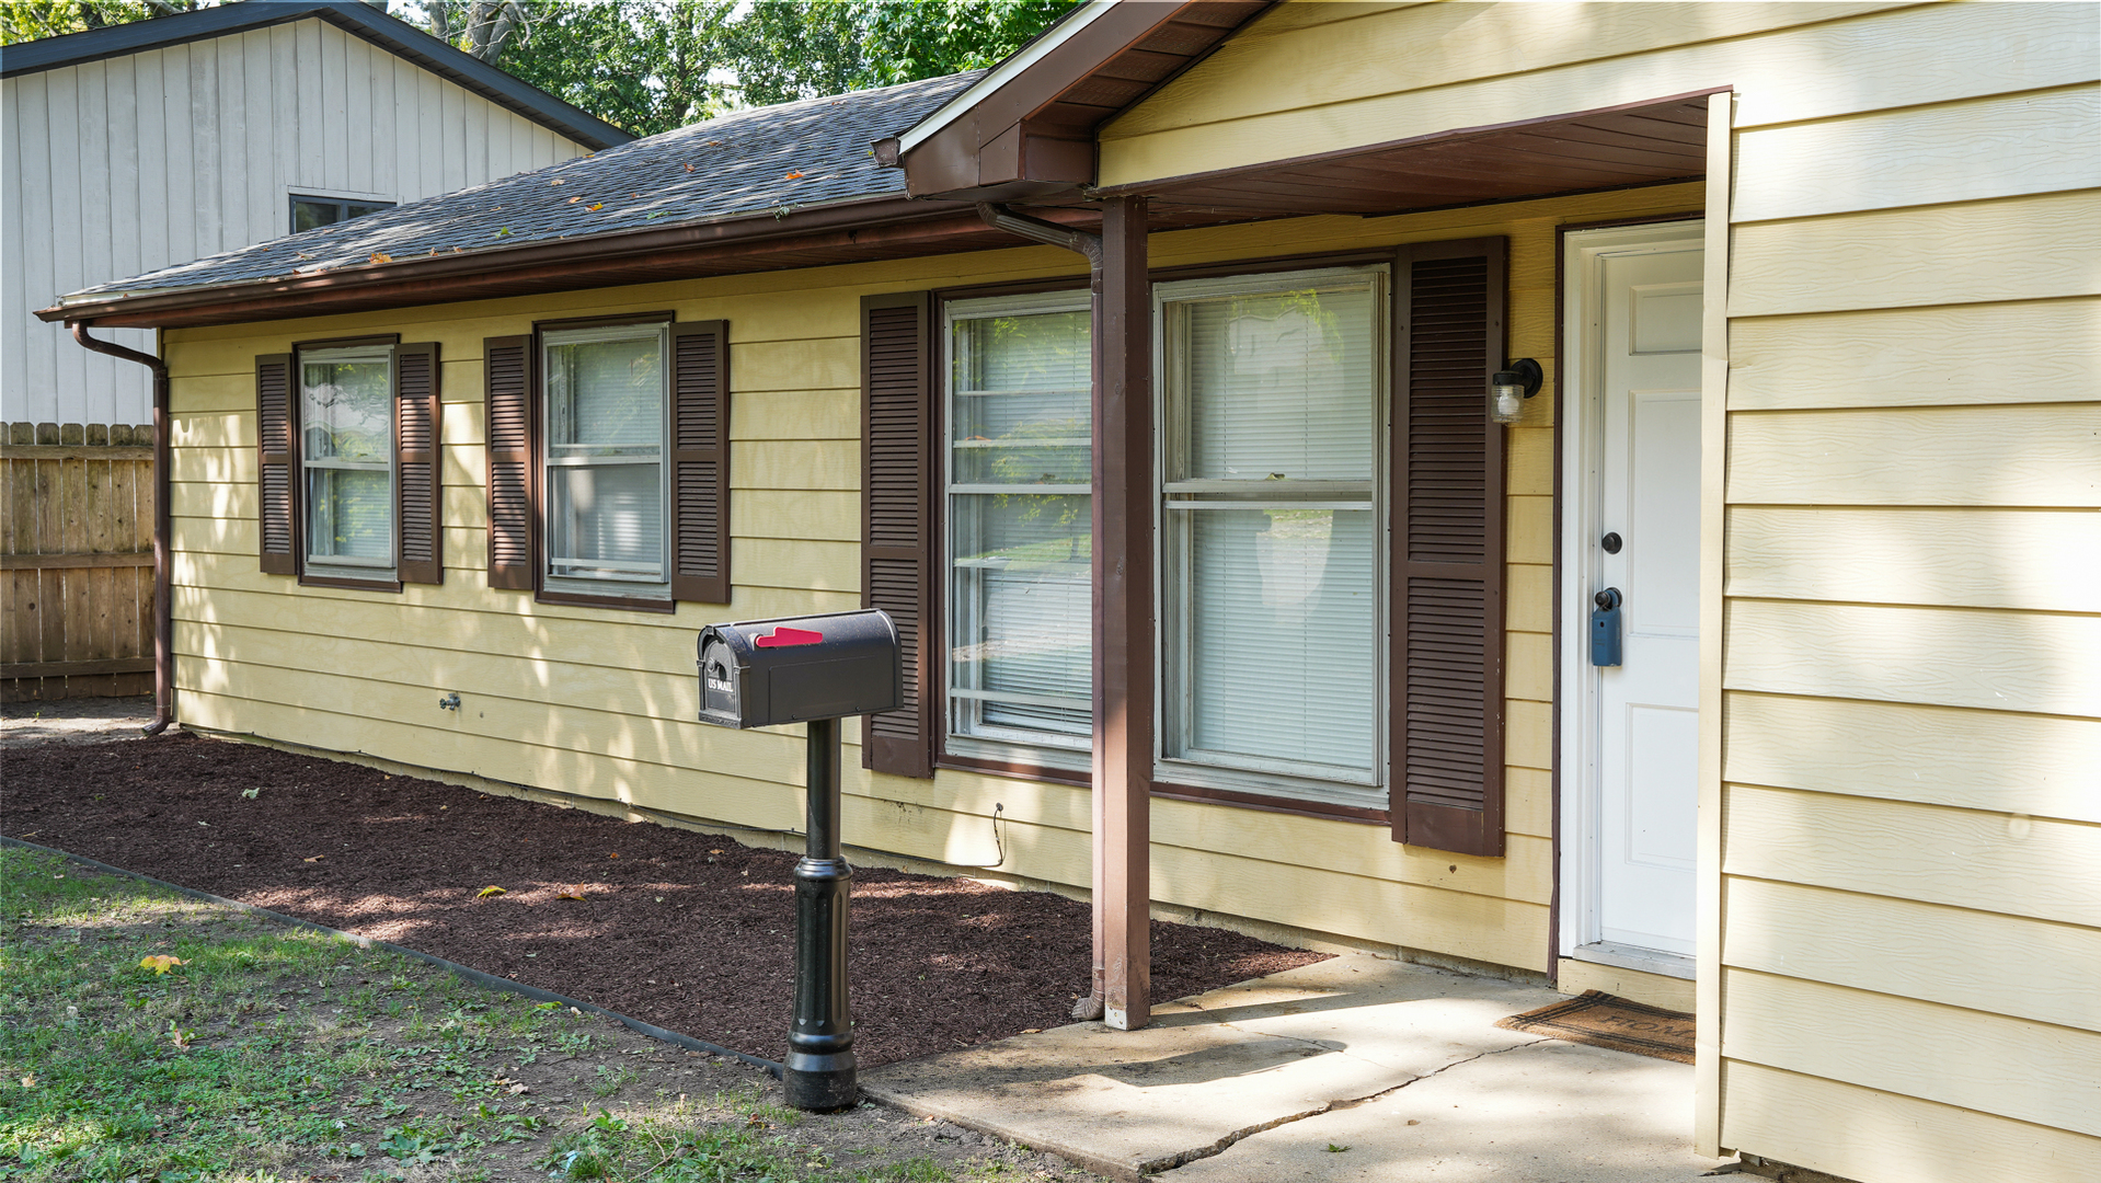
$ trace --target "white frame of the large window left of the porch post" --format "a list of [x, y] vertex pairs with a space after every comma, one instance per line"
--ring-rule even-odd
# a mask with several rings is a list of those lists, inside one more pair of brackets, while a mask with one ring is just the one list
[[[941, 578], [939, 578], [939, 605], [941, 605], [941, 750], [950, 756], [975, 756], [987, 761], [1008, 761], [1040, 767], [1055, 767], [1065, 771], [1088, 771], [1090, 750], [1095, 746], [1093, 735], [1059, 735], [1053, 731], [1029, 731], [1021, 727], [998, 727], [983, 725], [964, 735], [958, 733], [952, 723], [956, 719], [956, 698], [969, 698], [977, 691], [956, 691], [950, 653], [954, 653], [954, 624], [958, 620], [956, 611], [956, 513], [950, 498], [958, 494], [1000, 494], [1013, 492], [1008, 485], [958, 485], [956, 481], [956, 414], [954, 414], [954, 380], [956, 380], [956, 321], [960, 319], [983, 319], [990, 315], [1044, 315], [1044, 313], [1084, 313], [1090, 311], [1093, 296], [1086, 288], [1059, 290], [1059, 292], [1036, 292], [1025, 296], [979, 296], [971, 300], [948, 300], [941, 305], [941, 349], [937, 370], [937, 393], [939, 414], [941, 414], [941, 487], [937, 496], [941, 515]], [[1086, 441], [1093, 445], [1093, 439]], [[1036, 494], [1067, 494], [1067, 496], [1093, 496], [1095, 487], [1088, 485], [1029, 485]], [[1090, 622], [1093, 626], [1093, 622]], [[1088, 706], [1093, 706], [1088, 702]]]

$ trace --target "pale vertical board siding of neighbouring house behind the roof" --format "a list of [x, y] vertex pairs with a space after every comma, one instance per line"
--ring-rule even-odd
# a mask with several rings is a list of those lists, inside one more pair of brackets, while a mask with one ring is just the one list
[[65, 292], [282, 237], [292, 193], [401, 204], [588, 151], [319, 19], [0, 86], [0, 420], [153, 418], [145, 368], [32, 315]]

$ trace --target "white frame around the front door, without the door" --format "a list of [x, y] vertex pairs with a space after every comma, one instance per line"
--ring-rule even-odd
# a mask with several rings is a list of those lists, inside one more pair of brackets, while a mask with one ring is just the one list
[[1593, 540], [1603, 485], [1601, 368], [1597, 349], [1605, 256], [1656, 254], [1706, 244], [1704, 219], [1643, 219], [1597, 227], [1561, 227], [1559, 290], [1561, 359], [1555, 385], [1555, 948], [1557, 958], [1588, 960], [1666, 977], [1693, 977], [1693, 958], [1599, 943], [1599, 788], [1597, 674], [1588, 656], [1588, 603], [1595, 580]]

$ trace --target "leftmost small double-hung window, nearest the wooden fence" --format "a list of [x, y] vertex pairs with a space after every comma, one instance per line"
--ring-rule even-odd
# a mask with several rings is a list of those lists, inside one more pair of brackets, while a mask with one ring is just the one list
[[305, 572], [395, 578], [391, 345], [298, 353]]

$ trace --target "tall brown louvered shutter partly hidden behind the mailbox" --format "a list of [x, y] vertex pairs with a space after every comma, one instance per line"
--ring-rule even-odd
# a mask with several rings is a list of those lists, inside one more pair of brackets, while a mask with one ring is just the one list
[[933, 775], [933, 364], [927, 292], [861, 296], [861, 603], [897, 622], [903, 706], [870, 714], [861, 763]]

